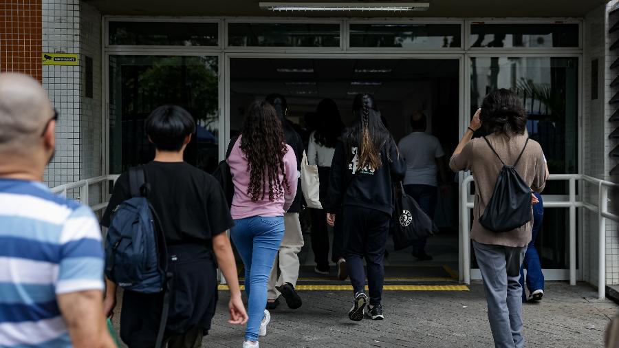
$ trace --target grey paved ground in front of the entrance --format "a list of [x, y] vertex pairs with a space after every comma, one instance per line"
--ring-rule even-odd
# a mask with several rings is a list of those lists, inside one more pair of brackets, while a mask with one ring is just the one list
[[[271, 312], [261, 347], [492, 347], [481, 283], [470, 292], [388, 291], [385, 320], [354, 323], [347, 291], [300, 292], [303, 307], [282, 303]], [[544, 300], [525, 304], [527, 347], [602, 347], [604, 331], [619, 307], [599, 301], [589, 285], [547, 283]], [[228, 294], [220, 292], [213, 328], [202, 347], [241, 347], [244, 327], [228, 325]], [[118, 316], [116, 317], [118, 318]]]

